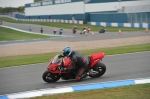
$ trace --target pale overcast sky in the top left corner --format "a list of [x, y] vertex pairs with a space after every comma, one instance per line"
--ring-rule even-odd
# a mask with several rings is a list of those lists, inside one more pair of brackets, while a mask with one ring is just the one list
[[0, 0], [0, 7], [19, 7], [27, 3], [33, 3], [33, 0]]

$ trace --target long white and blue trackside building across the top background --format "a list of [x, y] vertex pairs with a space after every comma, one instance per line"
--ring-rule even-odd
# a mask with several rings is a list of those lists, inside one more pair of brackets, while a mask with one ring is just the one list
[[29, 20], [150, 23], [150, 0], [43, 0], [25, 4]]

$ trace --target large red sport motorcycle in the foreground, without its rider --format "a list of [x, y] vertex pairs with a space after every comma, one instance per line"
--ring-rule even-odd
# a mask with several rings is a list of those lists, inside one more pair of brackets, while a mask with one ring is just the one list
[[[101, 62], [102, 58], [105, 56], [104, 52], [94, 53], [87, 58], [89, 58], [89, 66], [86, 73], [91, 78], [96, 78], [102, 76], [106, 72], [106, 66]], [[75, 79], [78, 71], [78, 66], [72, 72], [61, 71], [62, 67], [70, 67], [71, 60], [62, 55], [56, 55], [52, 58], [48, 64], [47, 70], [43, 73], [43, 80], [47, 83], [52, 83], [58, 81], [60, 78], [63, 80]]]

